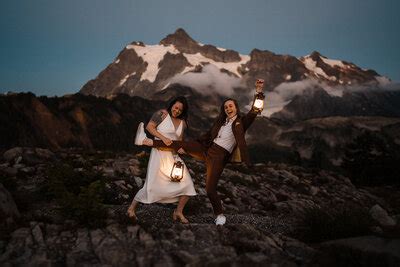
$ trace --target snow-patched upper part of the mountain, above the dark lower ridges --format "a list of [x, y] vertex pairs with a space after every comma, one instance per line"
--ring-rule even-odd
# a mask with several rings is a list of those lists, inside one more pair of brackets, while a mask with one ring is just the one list
[[231, 95], [235, 89], [252, 89], [263, 78], [266, 90], [282, 83], [316, 80], [330, 86], [357, 85], [388, 80], [373, 70], [364, 70], [318, 52], [296, 58], [254, 49], [250, 55], [204, 45], [178, 29], [157, 45], [133, 42], [114, 62], [80, 90], [83, 94], [112, 97], [118, 93], [145, 98], [179, 83], [201, 93]]

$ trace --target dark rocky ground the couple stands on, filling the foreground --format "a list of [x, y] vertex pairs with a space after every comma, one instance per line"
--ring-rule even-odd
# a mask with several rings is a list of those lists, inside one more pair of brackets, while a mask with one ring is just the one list
[[204, 165], [198, 195], [125, 211], [144, 183], [148, 151], [17, 147], [0, 164], [2, 266], [400, 266], [400, 193], [284, 164], [228, 165], [219, 183], [227, 224], [216, 227]]

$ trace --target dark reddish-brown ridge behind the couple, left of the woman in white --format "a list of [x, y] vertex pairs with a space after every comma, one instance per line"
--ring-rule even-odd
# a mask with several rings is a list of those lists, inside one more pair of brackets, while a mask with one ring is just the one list
[[[185, 87], [180, 87], [185, 90]], [[189, 88], [187, 90], [190, 90]], [[82, 147], [126, 151], [133, 149], [139, 122], [147, 122], [165, 101], [129, 97], [113, 99], [74, 94], [36, 97], [32, 93], [0, 96], [0, 150], [14, 146], [51, 149]], [[196, 106], [192, 106], [196, 109]], [[199, 112], [190, 115], [188, 136], [209, 127]]]

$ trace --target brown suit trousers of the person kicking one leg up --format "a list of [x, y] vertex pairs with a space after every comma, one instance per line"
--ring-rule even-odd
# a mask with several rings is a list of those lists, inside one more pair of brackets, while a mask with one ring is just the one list
[[187, 154], [195, 159], [205, 161], [207, 168], [206, 191], [210, 199], [214, 214], [223, 212], [221, 198], [217, 193], [218, 180], [228, 162], [230, 153], [221, 146], [213, 143], [209, 148], [196, 141], [173, 141], [166, 146], [161, 140], [154, 140], [153, 147], [177, 151], [183, 148]]

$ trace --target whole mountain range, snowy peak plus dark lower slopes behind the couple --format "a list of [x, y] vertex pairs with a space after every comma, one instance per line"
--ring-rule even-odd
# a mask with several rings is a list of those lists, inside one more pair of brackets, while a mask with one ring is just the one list
[[247, 112], [258, 77], [266, 80], [266, 108], [248, 131], [253, 162], [342, 168], [355, 157], [352, 151], [364, 149], [357, 140], [379, 143], [368, 155], [397, 158], [400, 90], [386, 88], [388, 81], [375, 71], [318, 52], [295, 58], [254, 49], [241, 55], [198, 43], [182, 29], [158, 45], [128, 45], [78, 94], [0, 96], [0, 148], [131, 150], [138, 123], [177, 95], [188, 99], [187, 138], [195, 138], [227, 96]]

